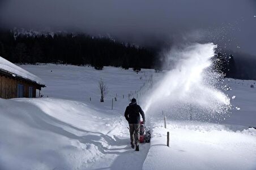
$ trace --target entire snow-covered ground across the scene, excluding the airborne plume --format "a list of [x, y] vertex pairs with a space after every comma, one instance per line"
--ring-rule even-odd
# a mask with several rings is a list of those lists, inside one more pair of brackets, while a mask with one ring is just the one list
[[[22, 65], [44, 80], [43, 98], [0, 99], [0, 169], [256, 169], [255, 81], [225, 79], [234, 107], [219, 124], [149, 117], [151, 143], [130, 148], [128, 94], [142, 99], [165, 73], [142, 69]], [[100, 103], [98, 82], [109, 93]], [[238, 84], [239, 82], [239, 84]], [[243, 84], [242, 84], [243, 83]], [[144, 85], [144, 86], [143, 86]], [[136, 91], [136, 93], [135, 93]], [[113, 103], [112, 98], [117, 101]], [[90, 101], [91, 98], [91, 101]], [[170, 132], [170, 147], [166, 133]]]

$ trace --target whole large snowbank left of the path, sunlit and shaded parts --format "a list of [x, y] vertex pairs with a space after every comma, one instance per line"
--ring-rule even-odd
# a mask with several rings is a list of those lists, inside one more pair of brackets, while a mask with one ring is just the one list
[[86, 104], [0, 99], [0, 108], [0, 169], [84, 169], [114, 141], [110, 118]]

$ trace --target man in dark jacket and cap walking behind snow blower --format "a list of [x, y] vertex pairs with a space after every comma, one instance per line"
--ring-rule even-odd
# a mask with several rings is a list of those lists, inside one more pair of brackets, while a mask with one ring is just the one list
[[131, 99], [131, 103], [126, 107], [125, 110], [125, 119], [129, 123], [130, 127], [130, 139], [131, 139], [131, 148], [135, 151], [139, 151], [139, 126], [140, 126], [140, 115], [142, 115], [142, 119], [145, 123], [145, 115], [142, 111], [142, 108], [136, 103], [136, 99]]

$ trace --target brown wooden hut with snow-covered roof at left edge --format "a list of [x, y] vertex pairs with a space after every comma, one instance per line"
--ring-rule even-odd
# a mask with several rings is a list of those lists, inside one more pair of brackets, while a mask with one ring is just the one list
[[44, 87], [39, 77], [0, 56], [0, 98], [40, 97]]

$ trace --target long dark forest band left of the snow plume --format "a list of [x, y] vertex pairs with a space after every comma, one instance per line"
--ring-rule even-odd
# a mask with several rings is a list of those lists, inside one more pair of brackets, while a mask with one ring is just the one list
[[87, 34], [15, 34], [0, 31], [0, 56], [13, 63], [60, 63], [125, 69], [153, 68], [156, 52]]

